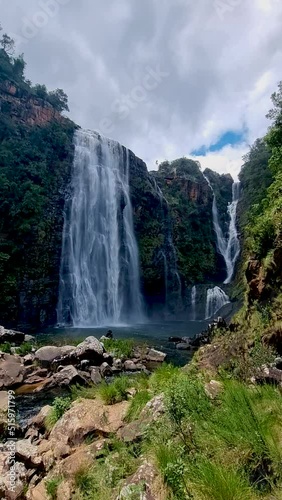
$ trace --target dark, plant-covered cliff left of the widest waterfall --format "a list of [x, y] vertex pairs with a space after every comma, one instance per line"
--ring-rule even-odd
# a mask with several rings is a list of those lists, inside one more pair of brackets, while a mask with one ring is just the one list
[[8, 82], [0, 106], [0, 317], [41, 328], [56, 322], [75, 126]]

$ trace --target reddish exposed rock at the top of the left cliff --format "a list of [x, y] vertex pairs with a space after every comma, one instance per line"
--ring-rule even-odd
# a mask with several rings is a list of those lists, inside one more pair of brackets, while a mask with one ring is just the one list
[[0, 85], [0, 105], [9, 105], [9, 115], [28, 125], [44, 125], [51, 121], [62, 121], [64, 117], [43, 99], [31, 96], [10, 82]]

